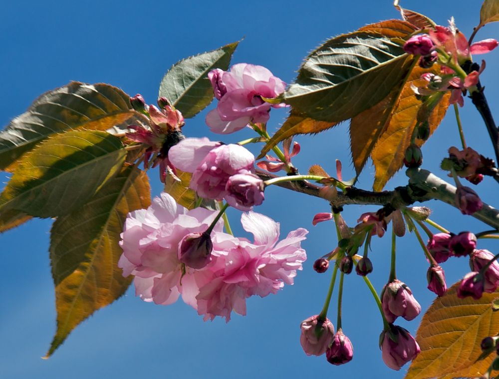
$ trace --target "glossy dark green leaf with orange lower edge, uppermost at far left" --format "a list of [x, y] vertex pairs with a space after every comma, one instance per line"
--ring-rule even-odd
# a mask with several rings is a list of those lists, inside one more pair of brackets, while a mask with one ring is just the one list
[[13, 171], [22, 154], [53, 133], [75, 128], [123, 129], [144, 122], [120, 89], [71, 82], [41, 95], [0, 133], [0, 169]]

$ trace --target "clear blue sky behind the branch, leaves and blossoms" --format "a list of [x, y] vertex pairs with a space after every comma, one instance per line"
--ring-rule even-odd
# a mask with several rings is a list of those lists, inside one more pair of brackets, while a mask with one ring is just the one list
[[[402, 5], [427, 13], [445, 24], [454, 15], [467, 35], [479, 20], [481, 1], [467, 7], [456, 1], [403, 1]], [[247, 62], [269, 68], [287, 83], [295, 76], [303, 57], [328, 37], [353, 31], [367, 23], [398, 18], [391, 0], [372, 1], [27, 1], [2, 4], [0, 13], [0, 125], [24, 112], [41, 93], [70, 80], [106, 82], [128, 94], [141, 93], [155, 103], [166, 70], [189, 55], [241, 40], [233, 63]], [[497, 24], [486, 26], [478, 39], [499, 37]], [[493, 83], [499, 52], [488, 56], [482, 78], [493, 110], [499, 101]], [[490, 83], [490, 84], [487, 84]], [[211, 106], [213, 107], [213, 105]], [[209, 109], [211, 109], [211, 107]], [[188, 136], [208, 135], [206, 112], [189, 120]], [[276, 130], [284, 111], [272, 111], [269, 130]], [[467, 141], [481, 153], [493, 156], [487, 132], [477, 111], [466, 101], [462, 110]], [[499, 118], [499, 115], [496, 115]], [[438, 175], [445, 150], [458, 145], [452, 112], [423, 148], [424, 168]], [[249, 131], [229, 135], [226, 142], [249, 137]], [[319, 163], [330, 172], [340, 159], [344, 177], [353, 175], [348, 152], [348, 128], [344, 123], [319, 137], [297, 138], [302, 152], [293, 160], [301, 171]], [[256, 146], [255, 146], [256, 147]], [[253, 152], [257, 152], [257, 147]], [[359, 185], [368, 189], [374, 168], [368, 166]], [[5, 177], [2, 177], [5, 181]], [[161, 185], [152, 175], [153, 193]], [[406, 184], [400, 172], [387, 186]], [[482, 198], [493, 203], [497, 185], [485, 180], [479, 186]], [[481, 231], [482, 227], [459, 211], [429, 203], [433, 219], [455, 232]], [[344, 217], [350, 225], [374, 207], [348, 207]], [[354, 345], [354, 359], [335, 367], [324, 357], [306, 357], [299, 345], [299, 323], [320, 311], [329, 274], [312, 270], [313, 261], [336, 244], [332, 223], [312, 227], [315, 213], [328, 206], [278, 188], [268, 188], [264, 204], [257, 209], [280, 222], [281, 234], [305, 227], [310, 231], [303, 247], [308, 253], [304, 270], [295, 285], [277, 295], [248, 300], [248, 315], [235, 315], [226, 324], [217, 319], [204, 322], [181, 301], [170, 306], [142, 302], [129, 290], [123, 298], [82, 323], [52, 358], [42, 357], [55, 330], [53, 283], [48, 260], [51, 221], [35, 220], [0, 236], [3, 273], [0, 276], [0, 378], [302, 378], [305, 376], [366, 376], [402, 378], [403, 371], [386, 368], [378, 349], [381, 319], [373, 299], [357, 275], [345, 280], [343, 329]], [[229, 213], [235, 232], [243, 235], [239, 213]], [[371, 280], [380, 290], [388, 277], [389, 239], [375, 239]], [[497, 244], [480, 242], [480, 248], [497, 253]], [[414, 236], [399, 242], [398, 276], [413, 290], [426, 309], [434, 299], [426, 289], [427, 262]], [[468, 272], [466, 259], [451, 259], [444, 266], [448, 283]], [[330, 315], [335, 323], [332, 301]], [[399, 322], [411, 332], [413, 322]]]

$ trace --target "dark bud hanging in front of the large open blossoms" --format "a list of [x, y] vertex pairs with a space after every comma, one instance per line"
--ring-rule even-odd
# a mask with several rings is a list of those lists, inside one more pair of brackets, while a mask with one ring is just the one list
[[212, 239], [207, 233], [190, 233], [180, 241], [177, 255], [186, 266], [199, 269], [210, 263], [212, 250]]

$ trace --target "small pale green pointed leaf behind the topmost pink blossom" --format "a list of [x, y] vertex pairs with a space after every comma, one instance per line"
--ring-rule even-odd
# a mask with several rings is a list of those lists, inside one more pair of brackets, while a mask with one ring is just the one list
[[161, 81], [159, 96], [166, 97], [184, 118], [194, 117], [213, 100], [208, 73], [215, 68], [227, 70], [238, 44], [230, 43], [175, 63]]

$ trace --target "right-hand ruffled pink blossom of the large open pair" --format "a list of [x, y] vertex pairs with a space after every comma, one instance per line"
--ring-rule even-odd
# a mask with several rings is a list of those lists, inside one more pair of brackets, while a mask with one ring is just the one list
[[213, 238], [214, 260], [209, 273], [197, 278], [198, 313], [204, 319], [231, 318], [234, 310], [246, 314], [246, 299], [277, 293], [284, 284], [293, 284], [296, 271], [302, 269], [306, 254], [300, 247], [307, 230], [299, 228], [281, 241], [279, 224], [259, 213], [244, 213], [243, 228], [253, 234], [254, 242], [217, 234]]

